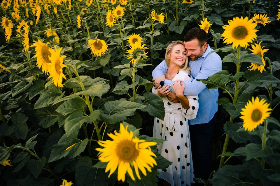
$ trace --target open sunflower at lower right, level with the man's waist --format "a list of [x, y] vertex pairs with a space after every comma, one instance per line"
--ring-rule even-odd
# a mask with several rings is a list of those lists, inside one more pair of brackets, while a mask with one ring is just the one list
[[243, 127], [245, 130], [252, 131], [257, 128], [258, 125], [262, 124], [267, 117], [270, 116], [269, 111], [271, 108], [269, 103], [265, 102], [265, 99], [259, 100], [257, 96], [256, 99], [252, 98], [252, 102], [249, 100], [245, 105], [245, 108], [242, 108], [242, 115], [240, 118], [243, 119]]

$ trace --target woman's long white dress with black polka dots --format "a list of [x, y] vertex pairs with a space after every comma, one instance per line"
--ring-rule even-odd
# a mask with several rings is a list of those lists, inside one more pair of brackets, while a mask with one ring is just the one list
[[[186, 71], [179, 71], [175, 80], [193, 80]], [[157, 90], [153, 88], [153, 93]], [[163, 97], [164, 120], [155, 118], [153, 137], [167, 141], [157, 146], [158, 152], [167, 160], [173, 162], [167, 169], [158, 169], [158, 177], [167, 180], [170, 185], [189, 185], [194, 183], [192, 154], [188, 119], [194, 119], [198, 110], [198, 96], [186, 96], [189, 109], [184, 109], [181, 103], [173, 103]]]

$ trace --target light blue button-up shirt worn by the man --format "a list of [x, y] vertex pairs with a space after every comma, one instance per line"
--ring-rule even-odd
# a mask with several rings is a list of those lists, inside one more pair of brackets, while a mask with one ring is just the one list
[[[206, 79], [212, 76], [218, 71], [222, 70], [222, 60], [220, 56], [213, 52], [209, 54], [213, 49], [207, 45], [204, 54], [195, 61], [189, 62], [190, 64], [190, 75], [194, 79], [193, 81], [187, 80], [185, 83], [184, 95], [196, 96], [198, 95], [199, 109], [195, 119], [189, 120], [190, 125], [208, 123], [218, 111], [218, 89], [208, 89], [206, 85], [196, 79]], [[209, 54], [209, 55], [208, 55]], [[208, 55], [208, 56], [207, 56]], [[153, 78], [159, 78], [166, 73], [168, 66], [162, 61], [152, 72]], [[173, 81], [165, 80], [164, 85], [168, 84], [171, 87]], [[172, 90], [173, 91], [173, 90]]]

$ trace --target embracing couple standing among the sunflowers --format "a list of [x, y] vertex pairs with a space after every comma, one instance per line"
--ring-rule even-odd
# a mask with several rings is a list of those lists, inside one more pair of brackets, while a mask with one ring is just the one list
[[[211, 167], [211, 139], [218, 111], [218, 89], [207, 89], [197, 79], [222, 70], [222, 61], [207, 44], [207, 34], [192, 28], [183, 41], [172, 41], [165, 60], [152, 72], [153, 93], [162, 97], [164, 120], [155, 118], [153, 137], [167, 141], [158, 152], [173, 162], [159, 170], [170, 185], [189, 185], [207, 179]], [[209, 54], [209, 55], [208, 55]], [[167, 184], [167, 183], [166, 183]]]

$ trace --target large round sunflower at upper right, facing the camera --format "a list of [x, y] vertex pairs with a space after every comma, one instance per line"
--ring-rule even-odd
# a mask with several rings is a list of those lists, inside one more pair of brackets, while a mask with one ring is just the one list
[[232, 48], [238, 47], [247, 47], [254, 39], [257, 38], [255, 29], [257, 26], [256, 23], [253, 23], [253, 19], [248, 17], [234, 17], [233, 20], [228, 21], [228, 25], [224, 25], [224, 33], [221, 35], [224, 37], [224, 43], [231, 44]]

